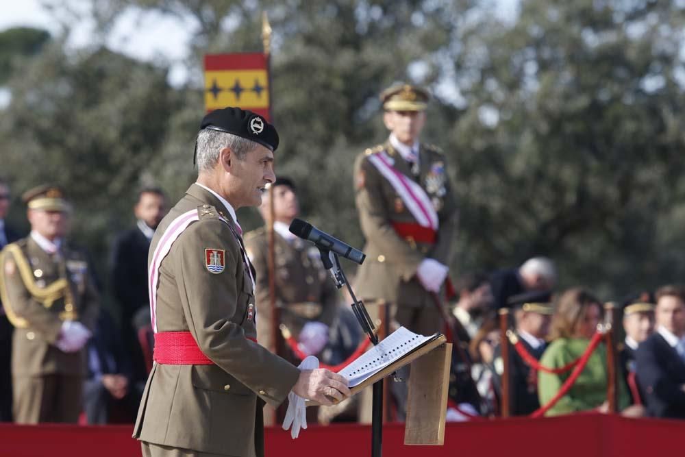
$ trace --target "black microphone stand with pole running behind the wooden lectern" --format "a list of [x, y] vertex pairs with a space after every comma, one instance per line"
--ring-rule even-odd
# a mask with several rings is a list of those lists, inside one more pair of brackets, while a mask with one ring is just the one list
[[[318, 246], [317, 246], [318, 247]], [[349, 296], [352, 297], [352, 311], [354, 312], [359, 325], [364, 330], [366, 336], [369, 337], [373, 345], [378, 344], [378, 336], [375, 334], [375, 327], [371, 317], [369, 317], [369, 312], [366, 312], [366, 307], [362, 301], [358, 300], [352, 291], [352, 286], [347, 281], [343, 267], [340, 266], [340, 258], [335, 252], [331, 252], [328, 249], [323, 249], [319, 247], [319, 253], [321, 254], [321, 262], [323, 262], [323, 267], [327, 270], [331, 270], [333, 279], [336, 282], [337, 288], [343, 288], [347, 286], [347, 291]], [[332, 254], [332, 256], [331, 256]], [[335, 260], [335, 264], [333, 260]], [[378, 380], [373, 383], [373, 404], [371, 412], [371, 457], [381, 457], [383, 441], [383, 380]]]

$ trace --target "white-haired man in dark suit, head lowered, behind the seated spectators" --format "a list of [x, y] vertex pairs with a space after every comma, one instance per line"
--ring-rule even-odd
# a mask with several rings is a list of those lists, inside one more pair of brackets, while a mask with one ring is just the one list
[[546, 257], [526, 260], [518, 269], [495, 271], [490, 277], [490, 286], [495, 296], [495, 308], [506, 308], [512, 295], [527, 291], [549, 291], [556, 284], [554, 263]]

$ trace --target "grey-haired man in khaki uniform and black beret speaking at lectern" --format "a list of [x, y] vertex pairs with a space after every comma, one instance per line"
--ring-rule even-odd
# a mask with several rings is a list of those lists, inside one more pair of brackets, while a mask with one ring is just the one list
[[260, 205], [277, 146], [273, 125], [240, 108], [201, 123], [197, 182], [150, 246], [155, 364], [134, 430], [145, 456], [262, 456], [264, 402], [350, 394], [342, 376], [300, 371], [256, 341], [256, 272], [236, 210]]

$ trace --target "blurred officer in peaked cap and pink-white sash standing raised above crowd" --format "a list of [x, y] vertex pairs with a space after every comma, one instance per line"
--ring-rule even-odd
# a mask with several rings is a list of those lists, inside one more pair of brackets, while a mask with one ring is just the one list
[[457, 207], [446, 158], [419, 143], [428, 92], [399, 84], [382, 92], [386, 143], [358, 156], [356, 204], [366, 237], [366, 262], [356, 291], [369, 304], [393, 307], [399, 325], [419, 334], [441, 330], [431, 297], [447, 279]]

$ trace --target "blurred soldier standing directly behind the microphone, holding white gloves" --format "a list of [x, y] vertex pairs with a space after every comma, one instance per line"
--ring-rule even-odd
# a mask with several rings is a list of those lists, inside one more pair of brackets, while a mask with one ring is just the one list
[[[307, 355], [316, 355], [328, 342], [329, 327], [336, 317], [338, 290], [323, 267], [319, 249], [288, 230], [299, 214], [295, 185], [287, 177], [278, 177], [272, 186], [276, 306], [280, 308], [281, 323], [299, 342], [299, 349]], [[269, 197], [263, 198], [260, 212], [268, 222]], [[264, 312], [257, 321], [258, 340], [271, 349], [269, 234], [266, 227], [247, 234], [245, 246], [255, 269], [260, 272], [255, 301]], [[290, 351], [279, 356], [292, 360]]]

